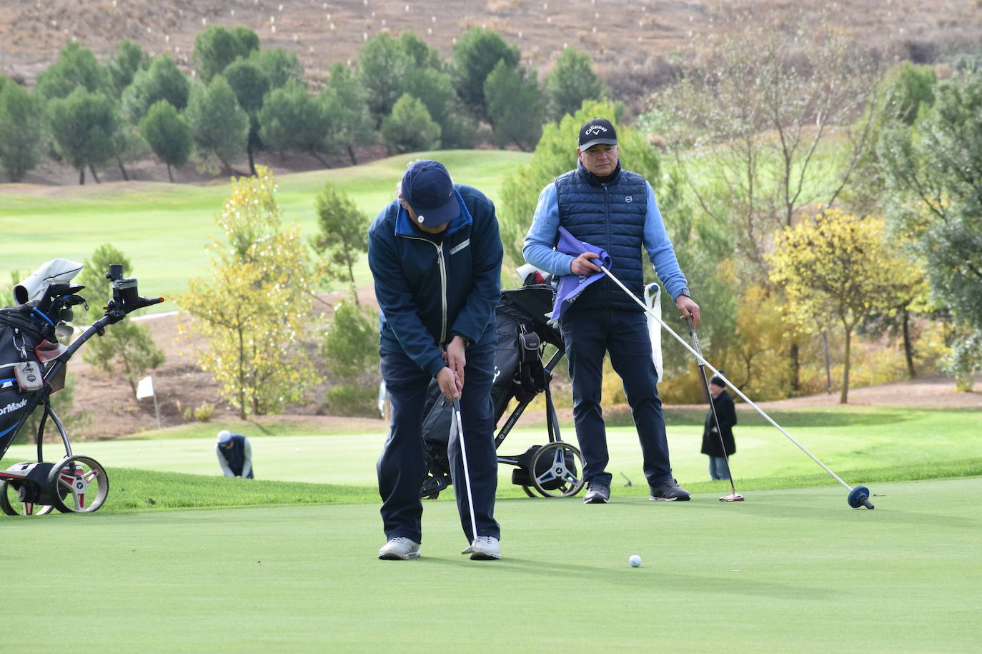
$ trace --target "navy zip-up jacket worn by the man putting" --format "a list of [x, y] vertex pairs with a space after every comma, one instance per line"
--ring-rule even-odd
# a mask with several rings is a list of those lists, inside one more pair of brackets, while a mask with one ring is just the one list
[[494, 204], [466, 184], [454, 184], [454, 191], [461, 215], [441, 234], [414, 226], [398, 198], [368, 228], [368, 266], [382, 314], [379, 347], [402, 350], [433, 377], [455, 335], [477, 343], [493, 334], [501, 297], [504, 252]]

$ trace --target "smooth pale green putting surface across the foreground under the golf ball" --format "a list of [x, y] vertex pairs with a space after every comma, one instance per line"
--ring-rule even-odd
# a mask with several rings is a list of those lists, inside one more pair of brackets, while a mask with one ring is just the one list
[[875, 511], [840, 491], [502, 500], [500, 562], [460, 556], [451, 502], [426, 505], [409, 562], [375, 559], [369, 504], [0, 519], [18, 589], [4, 639], [45, 652], [66, 638], [106, 651], [976, 650], [982, 478], [880, 484]]

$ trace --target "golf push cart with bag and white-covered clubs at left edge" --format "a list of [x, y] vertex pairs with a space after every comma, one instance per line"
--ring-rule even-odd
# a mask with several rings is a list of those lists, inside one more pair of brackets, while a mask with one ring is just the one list
[[[51, 407], [49, 397], [65, 385], [66, 365], [85, 341], [105, 333], [105, 327], [127, 314], [164, 298], [140, 297], [136, 278], [123, 277], [123, 267], [109, 267], [113, 297], [105, 315], [65, 346], [59, 337], [72, 333], [72, 307], [88, 305], [78, 292], [84, 288], [70, 280], [82, 264], [55, 259], [14, 288], [18, 306], [0, 309], [0, 459], [24, 428], [31, 413], [43, 406], [37, 427], [37, 461], [17, 463], [0, 471], [0, 510], [9, 516], [44, 515], [99, 509], [109, 493], [105, 469], [90, 457], [72, 452], [68, 433]], [[48, 419], [65, 446], [57, 463], [44, 461], [42, 445]]]

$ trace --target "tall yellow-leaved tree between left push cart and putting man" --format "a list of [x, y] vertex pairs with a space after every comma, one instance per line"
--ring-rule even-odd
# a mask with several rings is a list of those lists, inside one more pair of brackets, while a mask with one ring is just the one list
[[215, 216], [228, 242], [212, 241], [211, 273], [191, 279], [177, 299], [191, 314], [185, 331], [207, 343], [198, 367], [214, 375], [243, 419], [299, 402], [318, 381], [300, 343], [311, 316], [309, 256], [300, 227], [282, 225], [272, 173], [262, 166], [256, 173], [233, 180]]

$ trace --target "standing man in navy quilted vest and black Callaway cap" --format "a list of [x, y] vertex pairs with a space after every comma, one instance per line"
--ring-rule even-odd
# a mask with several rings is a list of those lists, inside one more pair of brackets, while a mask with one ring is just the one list
[[[651, 184], [621, 168], [617, 132], [602, 118], [579, 128], [576, 170], [558, 176], [539, 195], [523, 254], [529, 264], [558, 276], [589, 276], [600, 269], [596, 253], [577, 257], [553, 249], [560, 226], [576, 238], [606, 250], [611, 273], [636, 295], [644, 289], [642, 248], [672, 295], [682, 318], [699, 323], [699, 307], [688, 297], [685, 276], [665, 232]], [[583, 290], [560, 318], [573, 377], [573, 423], [583, 454], [586, 504], [606, 504], [611, 474], [603, 411], [600, 406], [604, 353], [624, 381], [650, 499], [687, 500], [672, 476], [658, 376], [651, 360], [651, 339], [641, 307], [604, 276]]]

